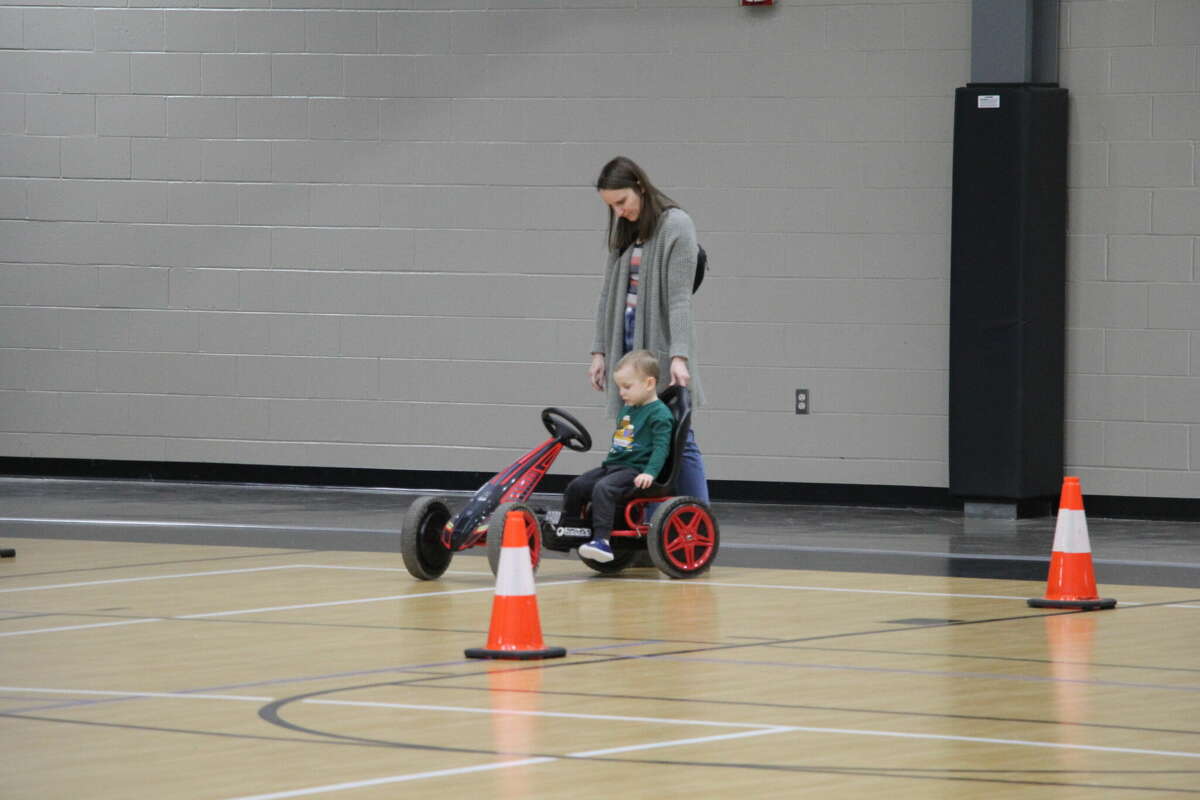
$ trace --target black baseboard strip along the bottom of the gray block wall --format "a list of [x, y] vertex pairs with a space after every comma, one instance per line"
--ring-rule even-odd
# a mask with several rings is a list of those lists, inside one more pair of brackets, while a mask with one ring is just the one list
[[[274, 483], [295, 486], [388, 487], [474, 492], [491, 473], [415, 469], [360, 469], [346, 467], [282, 467], [276, 464], [223, 464], [210, 462], [110, 461], [91, 458], [0, 457], [0, 475], [8, 477], [73, 477], [139, 481], [203, 481], [216, 483]], [[569, 477], [547, 475], [541, 492], [562, 492]], [[864, 483], [787, 483], [774, 481], [709, 481], [715, 501], [779, 503], [946, 509], [961, 511], [962, 498], [948, 489], [926, 486]], [[1086, 511], [1094, 517], [1200, 521], [1200, 499], [1086, 495]]]

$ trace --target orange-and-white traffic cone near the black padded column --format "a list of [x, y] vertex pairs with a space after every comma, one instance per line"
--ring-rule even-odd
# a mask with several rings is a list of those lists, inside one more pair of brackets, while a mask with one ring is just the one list
[[1058, 500], [1058, 521], [1054, 529], [1046, 596], [1031, 597], [1027, 602], [1033, 608], [1084, 610], [1112, 608], [1117, 604], [1117, 601], [1096, 594], [1092, 546], [1087, 541], [1087, 517], [1084, 516], [1084, 494], [1078, 477], [1062, 479], [1062, 498]]

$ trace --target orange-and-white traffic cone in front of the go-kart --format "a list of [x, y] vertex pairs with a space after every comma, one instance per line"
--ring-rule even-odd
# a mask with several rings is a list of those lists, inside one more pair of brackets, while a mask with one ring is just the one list
[[547, 648], [541, 640], [538, 595], [533, 587], [529, 536], [524, 515], [510, 511], [504, 519], [500, 566], [496, 571], [496, 597], [486, 648], [468, 648], [468, 658], [557, 658], [563, 648]]

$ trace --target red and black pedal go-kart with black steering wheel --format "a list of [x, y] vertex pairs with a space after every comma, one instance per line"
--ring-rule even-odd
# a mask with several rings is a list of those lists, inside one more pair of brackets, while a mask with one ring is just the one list
[[[689, 392], [682, 386], [670, 386], [659, 399], [676, 417], [671, 453], [658, 481], [649, 488], [632, 491], [629, 499], [618, 505], [610, 540], [613, 560], [601, 563], [580, 557], [602, 575], [620, 572], [643, 551], [649, 552], [654, 566], [672, 578], [701, 575], [716, 558], [720, 528], [708, 504], [674, 494], [679, 455], [691, 428]], [[566, 411], [547, 408], [541, 413], [541, 421], [551, 438], [493, 476], [452, 518], [443, 498], [422, 497], [413, 503], [401, 528], [400, 552], [414, 578], [433, 581], [440, 577], [456, 552], [473, 547], [487, 548], [487, 561], [494, 573], [499, 569], [504, 521], [510, 511], [526, 515], [534, 570], [541, 561], [542, 548], [566, 553], [592, 539], [590, 518], [562, 519], [559, 511], [534, 509], [526, 503], [563, 447], [577, 452], [592, 449], [587, 428]], [[648, 506], [654, 504], [658, 507], [648, 515]]]

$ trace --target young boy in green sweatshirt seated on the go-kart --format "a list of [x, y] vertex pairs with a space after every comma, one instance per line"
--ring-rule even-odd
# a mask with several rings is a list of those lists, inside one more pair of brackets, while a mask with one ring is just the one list
[[617, 503], [632, 488], [644, 489], [658, 477], [671, 451], [674, 417], [659, 399], [659, 361], [648, 350], [634, 350], [612, 372], [620, 399], [612, 447], [600, 467], [583, 473], [566, 486], [563, 517], [578, 517], [592, 501], [592, 541], [580, 546], [580, 555], [611, 561], [613, 513]]

